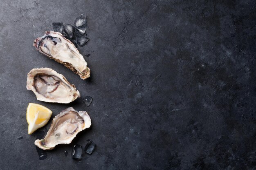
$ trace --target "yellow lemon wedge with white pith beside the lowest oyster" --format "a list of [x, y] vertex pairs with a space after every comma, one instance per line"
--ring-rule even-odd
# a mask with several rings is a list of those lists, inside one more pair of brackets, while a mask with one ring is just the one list
[[52, 116], [52, 111], [40, 104], [29, 103], [27, 106], [27, 123], [29, 124], [28, 133], [31, 135], [38, 128], [47, 124]]

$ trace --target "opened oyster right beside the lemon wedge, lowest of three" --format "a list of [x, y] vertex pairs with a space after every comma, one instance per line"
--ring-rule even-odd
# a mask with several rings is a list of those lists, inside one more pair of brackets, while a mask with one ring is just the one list
[[91, 126], [87, 112], [66, 108], [52, 120], [44, 139], [37, 139], [35, 145], [43, 150], [52, 150], [58, 144], [70, 144], [76, 135]]

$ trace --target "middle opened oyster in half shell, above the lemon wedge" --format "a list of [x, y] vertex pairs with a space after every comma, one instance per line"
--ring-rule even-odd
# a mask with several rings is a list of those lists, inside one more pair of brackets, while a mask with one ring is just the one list
[[53, 103], [70, 103], [80, 97], [74, 84], [51, 68], [34, 68], [27, 74], [27, 89], [38, 100]]

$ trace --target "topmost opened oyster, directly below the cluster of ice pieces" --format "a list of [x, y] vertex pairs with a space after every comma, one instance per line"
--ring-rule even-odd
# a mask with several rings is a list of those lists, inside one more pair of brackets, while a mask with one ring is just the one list
[[47, 31], [34, 41], [34, 46], [40, 53], [70, 68], [82, 79], [90, 77], [90, 68], [87, 67], [83, 55], [61, 33]]

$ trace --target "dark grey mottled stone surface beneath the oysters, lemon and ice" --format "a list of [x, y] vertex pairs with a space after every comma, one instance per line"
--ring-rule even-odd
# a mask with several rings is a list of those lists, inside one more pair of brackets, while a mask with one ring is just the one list
[[[255, 9], [255, 0], [2, 0], [0, 169], [254, 170]], [[82, 13], [87, 80], [32, 46], [52, 22], [73, 24]], [[82, 97], [37, 101], [26, 80], [40, 67], [65, 75]], [[39, 160], [34, 141], [50, 123], [28, 135], [29, 102], [53, 116], [70, 106], [86, 110], [92, 127]], [[72, 146], [86, 139], [96, 150], [73, 160]]]

